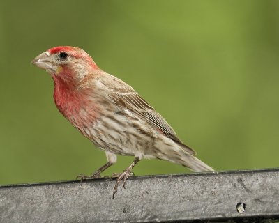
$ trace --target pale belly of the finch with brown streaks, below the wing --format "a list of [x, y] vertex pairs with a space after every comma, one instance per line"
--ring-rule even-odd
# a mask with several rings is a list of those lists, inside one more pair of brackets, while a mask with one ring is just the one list
[[105, 151], [144, 157], [153, 147], [156, 131], [140, 118], [104, 114], [98, 121], [82, 128], [82, 133]]

